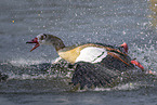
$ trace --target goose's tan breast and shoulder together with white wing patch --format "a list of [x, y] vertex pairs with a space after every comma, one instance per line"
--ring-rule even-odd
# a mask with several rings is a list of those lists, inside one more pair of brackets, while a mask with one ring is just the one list
[[92, 43], [79, 45], [68, 51], [63, 49], [57, 53], [71, 64], [77, 62], [99, 63], [107, 55], [105, 48]]

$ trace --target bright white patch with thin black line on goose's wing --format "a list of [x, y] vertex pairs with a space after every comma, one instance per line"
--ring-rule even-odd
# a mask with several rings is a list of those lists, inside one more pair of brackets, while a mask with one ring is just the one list
[[77, 62], [89, 62], [89, 63], [99, 63], [104, 57], [106, 57], [107, 51], [102, 48], [88, 47], [80, 51], [80, 55], [77, 57]]

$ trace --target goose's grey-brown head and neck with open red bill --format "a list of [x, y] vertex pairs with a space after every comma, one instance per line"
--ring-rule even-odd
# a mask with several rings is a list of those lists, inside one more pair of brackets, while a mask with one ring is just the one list
[[41, 44], [53, 45], [56, 51], [65, 48], [63, 41], [60, 38], [48, 34], [40, 34], [37, 37], [35, 37], [31, 41], [27, 41], [26, 43], [36, 43], [35, 47], [30, 50], [30, 52], [40, 47]]

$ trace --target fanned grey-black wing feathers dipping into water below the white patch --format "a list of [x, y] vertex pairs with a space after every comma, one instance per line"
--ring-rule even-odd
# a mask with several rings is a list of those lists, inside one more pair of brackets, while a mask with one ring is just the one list
[[88, 88], [92, 86], [105, 87], [117, 76], [116, 70], [105, 68], [102, 65], [80, 62], [77, 64], [71, 82], [74, 86], [80, 84], [80, 89], [83, 89], [84, 86]]

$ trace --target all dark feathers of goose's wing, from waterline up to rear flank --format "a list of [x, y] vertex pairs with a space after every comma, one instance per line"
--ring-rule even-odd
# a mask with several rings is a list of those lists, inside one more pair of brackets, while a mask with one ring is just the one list
[[84, 86], [88, 88], [110, 86], [122, 71], [131, 68], [133, 68], [132, 65], [127, 65], [112, 55], [107, 55], [102, 62], [95, 64], [79, 62], [71, 82], [74, 86], [80, 84], [80, 89], [83, 89]]

